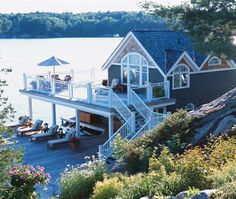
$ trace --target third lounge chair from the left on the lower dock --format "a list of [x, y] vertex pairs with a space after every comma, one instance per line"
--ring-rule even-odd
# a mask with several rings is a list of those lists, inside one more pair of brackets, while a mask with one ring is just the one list
[[52, 125], [46, 133], [40, 133], [31, 135], [31, 141], [42, 141], [42, 140], [49, 140], [56, 137], [58, 125]]

